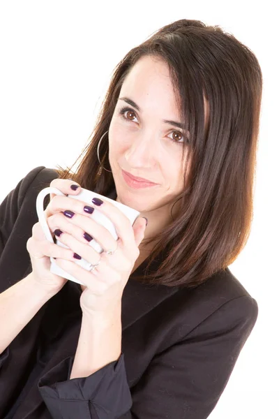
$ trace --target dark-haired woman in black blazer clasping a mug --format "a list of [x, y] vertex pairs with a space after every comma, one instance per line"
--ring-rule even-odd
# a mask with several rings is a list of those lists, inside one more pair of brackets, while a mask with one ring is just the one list
[[[261, 98], [248, 47], [173, 22], [116, 67], [77, 170], [39, 166], [3, 200], [1, 418], [209, 416], [257, 320], [227, 266], [250, 233]], [[50, 196], [63, 249], [36, 216], [49, 185], [91, 189], [140, 217], [130, 226], [109, 203]], [[89, 217], [97, 207], [117, 242]], [[84, 285], [51, 274], [50, 256]]]

